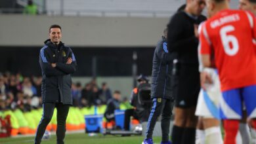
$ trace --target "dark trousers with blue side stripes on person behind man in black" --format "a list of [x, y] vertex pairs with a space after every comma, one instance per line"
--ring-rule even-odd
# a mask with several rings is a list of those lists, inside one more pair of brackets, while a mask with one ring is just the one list
[[148, 118], [148, 125], [146, 129], [146, 139], [152, 139], [153, 130], [156, 125], [156, 120], [161, 115], [162, 141], [168, 141], [173, 105], [173, 99], [153, 99], [153, 106], [150, 112], [150, 117]]

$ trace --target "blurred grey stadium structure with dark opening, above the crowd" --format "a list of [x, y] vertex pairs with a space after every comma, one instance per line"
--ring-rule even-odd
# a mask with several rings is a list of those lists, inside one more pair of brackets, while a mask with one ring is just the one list
[[[0, 71], [40, 76], [39, 49], [52, 24], [78, 63], [81, 86], [96, 78], [128, 97], [139, 74], [151, 75], [154, 47], [185, 0], [1, 0]], [[32, 3], [32, 4], [31, 4]], [[232, 1], [237, 9], [238, 1]]]

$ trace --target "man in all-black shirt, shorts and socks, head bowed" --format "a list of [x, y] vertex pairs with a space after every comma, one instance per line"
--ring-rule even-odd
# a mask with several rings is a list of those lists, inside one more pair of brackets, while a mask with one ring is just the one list
[[177, 54], [173, 61], [172, 83], [175, 97], [174, 144], [195, 143], [195, 110], [200, 91], [197, 26], [206, 20], [201, 15], [204, 7], [205, 0], [186, 0], [185, 9], [174, 14], [168, 24], [169, 52]]

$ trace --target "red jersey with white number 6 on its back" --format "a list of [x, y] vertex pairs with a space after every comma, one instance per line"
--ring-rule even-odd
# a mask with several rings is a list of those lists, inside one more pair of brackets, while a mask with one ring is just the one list
[[243, 10], [222, 10], [200, 26], [200, 54], [214, 53], [221, 90], [256, 84], [256, 20]]

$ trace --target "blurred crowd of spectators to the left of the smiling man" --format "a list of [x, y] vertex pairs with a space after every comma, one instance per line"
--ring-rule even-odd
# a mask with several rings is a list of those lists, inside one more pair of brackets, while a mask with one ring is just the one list
[[30, 111], [41, 106], [41, 77], [20, 73], [0, 73], [0, 110], [20, 108]]

